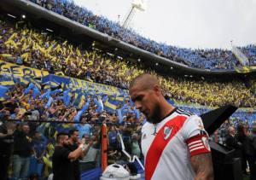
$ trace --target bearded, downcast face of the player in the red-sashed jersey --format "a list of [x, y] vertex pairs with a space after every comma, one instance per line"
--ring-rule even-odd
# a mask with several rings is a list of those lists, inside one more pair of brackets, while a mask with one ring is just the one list
[[139, 84], [134, 84], [129, 90], [131, 100], [149, 123], [156, 123], [160, 119], [160, 104], [155, 90], [143, 90]]

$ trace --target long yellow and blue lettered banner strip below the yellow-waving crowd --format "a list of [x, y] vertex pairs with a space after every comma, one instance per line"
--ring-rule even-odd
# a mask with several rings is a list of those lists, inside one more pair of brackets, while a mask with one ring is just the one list
[[[11, 77], [20, 77], [22, 79], [49, 77], [49, 73], [47, 71], [41, 71], [31, 67], [19, 66], [19, 65], [9, 63], [6, 61], [1, 61], [1, 60], [0, 60], [0, 74], [9, 75]], [[67, 86], [69, 88], [72, 88], [73, 90], [82, 89], [82, 90], [88, 90], [88, 91], [95, 91], [96, 93], [103, 93], [103, 94], [116, 95], [116, 96], [125, 95], [128, 92], [127, 90], [122, 90], [110, 85], [97, 84], [97, 83], [81, 80], [78, 78], [69, 78], [65, 76], [59, 76], [58, 78], [58, 76], [55, 76], [55, 75], [52, 75], [51, 77], [54, 77], [54, 78], [49, 78], [49, 79], [54, 80], [55, 83], [58, 83], [58, 84], [63, 83], [63, 78], [66, 79], [65, 83], [67, 84], [67, 79], [68, 79], [69, 84]], [[11, 82], [11, 80], [9, 80], [9, 82]], [[8, 84], [5, 84], [5, 85], [8, 85]], [[9, 84], [9, 85], [12, 85], [12, 84]]]

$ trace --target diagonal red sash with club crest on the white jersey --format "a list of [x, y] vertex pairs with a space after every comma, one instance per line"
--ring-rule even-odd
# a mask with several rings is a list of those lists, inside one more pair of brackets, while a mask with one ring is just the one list
[[[162, 126], [160, 131], [157, 132], [157, 135], [154, 137], [154, 140], [151, 143], [146, 156], [145, 180], [151, 179], [163, 150], [166, 148], [168, 142], [172, 140], [172, 137], [176, 135], [177, 131], [181, 129], [186, 119], [187, 117], [182, 115], [170, 119], [166, 122], [165, 125]], [[168, 134], [168, 131], [170, 132], [170, 134]]]

